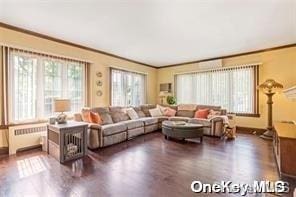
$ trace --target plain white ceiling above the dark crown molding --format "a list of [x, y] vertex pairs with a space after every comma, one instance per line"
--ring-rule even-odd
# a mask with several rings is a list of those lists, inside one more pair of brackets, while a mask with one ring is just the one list
[[296, 43], [296, 0], [0, 0], [0, 21], [158, 67]]

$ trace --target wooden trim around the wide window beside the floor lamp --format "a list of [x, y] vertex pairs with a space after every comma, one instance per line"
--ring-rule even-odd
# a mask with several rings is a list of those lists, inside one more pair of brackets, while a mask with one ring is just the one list
[[[190, 71], [190, 72], [183, 72], [183, 73], [175, 73], [174, 74], [174, 95], [177, 96], [177, 76], [182, 75], [182, 74], [194, 74], [194, 73], [205, 73], [205, 72], [212, 72], [212, 71], [219, 71], [219, 70], [233, 70], [236, 68], [244, 67], [244, 66], [254, 66], [254, 109], [253, 113], [233, 113], [236, 116], [241, 116], [241, 117], [254, 117], [254, 118], [259, 118], [260, 113], [259, 113], [259, 89], [257, 88], [259, 85], [259, 66], [261, 63], [254, 63], [254, 64], [245, 64], [245, 65], [238, 65], [238, 66], [227, 66], [227, 67], [222, 67], [218, 69], [207, 69], [207, 70], [196, 70], [196, 71]], [[178, 98], [177, 98], [178, 99]], [[232, 113], [232, 112], [230, 112]]]

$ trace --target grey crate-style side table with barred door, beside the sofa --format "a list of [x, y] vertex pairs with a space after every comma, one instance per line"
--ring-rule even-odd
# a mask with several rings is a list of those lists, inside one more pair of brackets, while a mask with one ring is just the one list
[[88, 124], [69, 121], [47, 125], [47, 153], [60, 163], [78, 159], [87, 154]]

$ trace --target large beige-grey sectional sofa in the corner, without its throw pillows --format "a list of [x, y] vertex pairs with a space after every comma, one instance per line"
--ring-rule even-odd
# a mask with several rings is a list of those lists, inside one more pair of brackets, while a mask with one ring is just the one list
[[[89, 123], [88, 130], [88, 147], [96, 149], [120, 143], [138, 135], [143, 135], [161, 128], [164, 120], [182, 120], [192, 123], [200, 123], [204, 125], [204, 134], [210, 136], [221, 136], [223, 132], [223, 119], [216, 117], [212, 119], [196, 119], [194, 117], [195, 110], [178, 110], [179, 106], [170, 106], [177, 111], [174, 117], [151, 117], [149, 109], [155, 108], [156, 105], [141, 105], [133, 107], [139, 118], [130, 120], [128, 115], [123, 111], [126, 107], [95, 107], [90, 109], [92, 112], [98, 113], [103, 121], [101, 125]], [[226, 111], [217, 106], [196, 105], [195, 109], [209, 108], [220, 110], [222, 114]], [[75, 114], [75, 121], [82, 121], [82, 115]]]

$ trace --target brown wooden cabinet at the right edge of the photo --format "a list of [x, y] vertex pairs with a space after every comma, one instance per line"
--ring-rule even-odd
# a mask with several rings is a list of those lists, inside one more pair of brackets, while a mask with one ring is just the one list
[[274, 123], [273, 149], [281, 176], [296, 178], [296, 125]]

